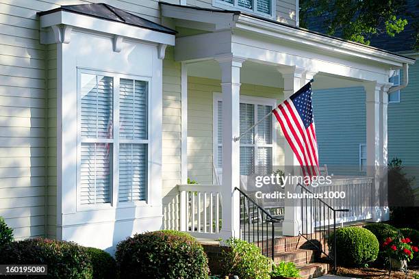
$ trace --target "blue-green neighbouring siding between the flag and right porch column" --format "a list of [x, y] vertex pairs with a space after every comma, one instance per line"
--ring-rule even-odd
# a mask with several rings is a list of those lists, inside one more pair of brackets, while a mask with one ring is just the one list
[[366, 143], [364, 88], [313, 92], [320, 165], [359, 165], [359, 144]]

